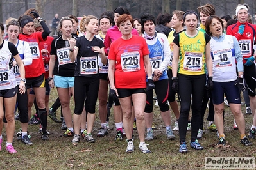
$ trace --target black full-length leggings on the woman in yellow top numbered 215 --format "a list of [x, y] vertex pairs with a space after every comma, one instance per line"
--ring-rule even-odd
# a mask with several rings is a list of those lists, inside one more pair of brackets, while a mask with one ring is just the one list
[[[203, 100], [206, 75], [183, 75], [178, 73], [178, 86], [180, 95], [180, 119], [178, 122], [180, 132], [180, 142], [185, 142], [187, 135], [187, 117], [190, 106], [192, 110], [191, 118], [191, 140], [197, 138], [200, 127], [200, 110]], [[191, 104], [192, 95], [192, 104]]]

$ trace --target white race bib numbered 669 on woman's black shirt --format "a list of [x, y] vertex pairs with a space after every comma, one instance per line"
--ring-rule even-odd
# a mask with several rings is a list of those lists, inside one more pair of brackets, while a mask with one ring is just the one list
[[97, 57], [83, 57], [80, 58], [80, 73], [83, 75], [97, 74], [98, 64]]

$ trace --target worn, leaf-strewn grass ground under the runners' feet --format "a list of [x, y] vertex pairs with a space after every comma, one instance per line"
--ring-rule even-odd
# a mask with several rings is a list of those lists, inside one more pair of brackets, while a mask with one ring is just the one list
[[[56, 89], [51, 91], [49, 106], [56, 99]], [[74, 105], [71, 107], [73, 111]], [[242, 105], [243, 113], [245, 107]], [[97, 112], [94, 123], [93, 135], [95, 143], [87, 143], [81, 139], [76, 146], [71, 144], [72, 138], [60, 137], [65, 131], [61, 130], [60, 123], [54, 123], [48, 118], [49, 141], [42, 141], [37, 125], [29, 126], [32, 146], [26, 146], [20, 141], [13, 140], [13, 145], [18, 151], [16, 154], [8, 154], [5, 150], [6, 134], [3, 133], [4, 142], [0, 151], [0, 169], [204, 169], [205, 157], [255, 157], [256, 142], [253, 146], [243, 146], [240, 143], [238, 130], [233, 130], [234, 118], [230, 109], [225, 107], [225, 135], [229, 146], [226, 148], [216, 148], [218, 138], [216, 132], [207, 130], [205, 121], [205, 134], [200, 139], [200, 144], [204, 150], [196, 151], [189, 147], [189, 153], [183, 155], [178, 153], [179, 140], [169, 141], [165, 135], [165, 127], [160, 117], [158, 107], [154, 109], [154, 123], [157, 130], [154, 131], [155, 139], [149, 144], [151, 154], [143, 154], [139, 151], [139, 139], [135, 131], [135, 151], [132, 154], [125, 153], [126, 141], [114, 141], [115, 125], [113, 113], [110, 116], [109, 134], [102, 138], [96, 138], [100, 128], [99, 116]], [[206, 112], [207, 116], [208, 112]], [[58, 118], [60, 111], [58, 111]], [[175, 123], [173, 112], [172, 126]], [[205, 116], [205, 117], [206, 117]], [[252, 115], [244, 115], [246, 120], [246, 133], [252, 125]], [[16, 121], [16, 132], [19, 131], [20, 123]], [[190, 140], [191, 132], [187, 132], [187, 141]]]

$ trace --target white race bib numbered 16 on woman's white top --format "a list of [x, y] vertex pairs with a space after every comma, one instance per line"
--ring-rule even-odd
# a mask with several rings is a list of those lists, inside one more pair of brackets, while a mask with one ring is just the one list
[[232, 66], [231, 49], [216, 50], [213, 52], [215, 67]]

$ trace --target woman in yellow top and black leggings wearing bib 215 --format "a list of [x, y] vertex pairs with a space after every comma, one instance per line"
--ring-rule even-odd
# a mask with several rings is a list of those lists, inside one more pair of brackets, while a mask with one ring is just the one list
[[[186, 31], [173, 40], [173, 84], [175, 91], [180, 89], [180, 153], [187, 153], [186, 133], [192, 95], [191, 148], [203, 150], [198, 143], [200, 109], [208, 71], [207, 89], [212, 89], [212, 59], [210, 56], [210, 36], [197, 30], [198, 14], [191, 10], [183, 15]], [[206, 70], [207, 68], [207, 70]]]

